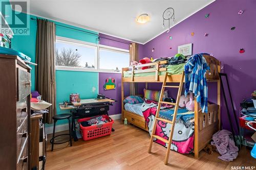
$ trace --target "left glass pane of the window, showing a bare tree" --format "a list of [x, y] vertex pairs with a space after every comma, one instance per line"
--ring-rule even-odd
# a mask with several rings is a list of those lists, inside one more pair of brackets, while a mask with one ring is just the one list
[[84, 44], [57, 40], [55, 65], [95, 69], [97, 48]]

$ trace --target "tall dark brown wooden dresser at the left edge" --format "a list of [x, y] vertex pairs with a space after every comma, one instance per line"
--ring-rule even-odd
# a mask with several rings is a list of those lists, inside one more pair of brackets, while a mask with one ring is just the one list
[[0, 54], [0, 169], [30, 169], [30, 70]]

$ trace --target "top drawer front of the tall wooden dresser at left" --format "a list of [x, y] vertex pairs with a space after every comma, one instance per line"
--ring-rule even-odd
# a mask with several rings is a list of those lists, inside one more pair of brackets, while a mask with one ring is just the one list
[[17, 68], [17, 101], [26, 98], [31, 91], [30, 73]]

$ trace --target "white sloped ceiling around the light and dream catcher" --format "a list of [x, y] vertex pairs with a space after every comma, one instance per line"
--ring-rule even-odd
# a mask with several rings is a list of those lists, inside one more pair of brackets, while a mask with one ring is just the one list
[[[166, 31], [163, 11], [175, 10], [175, 24], [215, 0], [30, 0], [30, 13], [115, 37], [146, 43]], [[151, 21], [137, 23], [147, 13]]]

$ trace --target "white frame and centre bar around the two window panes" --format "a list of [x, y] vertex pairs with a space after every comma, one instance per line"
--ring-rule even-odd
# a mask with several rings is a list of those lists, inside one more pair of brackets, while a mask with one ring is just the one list
[[[128, 53], [129, 50], [124, 50], [122, 48], [116, 48], [112, 46], [107, 46], [107, 45], [101, 45], [101, 44], [95, 44], [91, 42], [86, 42], [86, 41], [81, 41], [81, 40], [76, 40], [76, 39], [71, 39], [71, 38], [66, 38], [66, 37], [60, 37], [56, 36], [55, 42], [62, 42], [62, 43], [70, 43], [72, 45], [77, 45], [81, 47], [89, 47], [89, 48], [95, 48], [95, 68], [80, 68], [80, 67], [69, 67], [69, 66], [57, 66], [55, 65], [56, 70], [68, 70], [68, 71], [86, 71], [86, 72], [110, 72], [110, 73], [119, 73], [121, 74], [121, 70], [114, 70], [114, 69], [99, 69], [99, 50], [108, 50], [112, 52], [121, 52], [121, 53]], [[120, 68], [119, 68], [120, 69]]]

